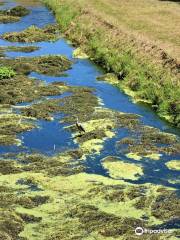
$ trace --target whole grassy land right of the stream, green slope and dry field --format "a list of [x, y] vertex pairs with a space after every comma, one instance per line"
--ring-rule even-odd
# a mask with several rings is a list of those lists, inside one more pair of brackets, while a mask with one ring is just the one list
[[136, 101], [180, 126], [180, 5], [158, 0], [44, 0], [61, 30]]

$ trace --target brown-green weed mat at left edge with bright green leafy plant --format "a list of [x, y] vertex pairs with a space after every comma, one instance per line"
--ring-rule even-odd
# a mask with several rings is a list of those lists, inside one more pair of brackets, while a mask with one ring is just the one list
[[0, 68], [0, 104], [31, 102], [42, 96], [60, 95], [68, 89], [61, 83], [45, 85], [43, 81], [26, 76], [32, 71], [59, 76], [71, 66], [65, 57], [1, 59], [0, 63], [3, 65]]

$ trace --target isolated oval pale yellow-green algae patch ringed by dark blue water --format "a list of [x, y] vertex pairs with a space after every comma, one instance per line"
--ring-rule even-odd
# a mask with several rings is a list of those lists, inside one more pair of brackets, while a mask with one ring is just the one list
[[106, 157], [102, 159], [102, 165], [108, 170], [112, 178], [137, 180], [143, 175], [142, 167], [132, 163], [122, 162], [116, 157]]

